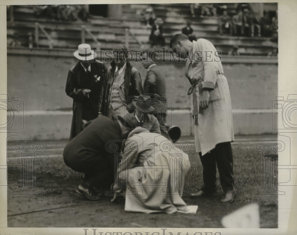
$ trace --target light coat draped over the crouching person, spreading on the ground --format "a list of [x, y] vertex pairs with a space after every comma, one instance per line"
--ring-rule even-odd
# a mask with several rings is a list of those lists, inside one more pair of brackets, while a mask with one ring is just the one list
[[128, 136], [116, 176], [126, 185], [125, 211], [195, 213], [181, 198], [189, 156], [164, 136], [136, 128]]

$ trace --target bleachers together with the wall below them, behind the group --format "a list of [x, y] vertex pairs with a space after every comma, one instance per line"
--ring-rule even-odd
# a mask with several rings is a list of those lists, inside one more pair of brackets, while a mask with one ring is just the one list
[[[250, 26], [257, 21], [250, 15], [260, 20], [261, 32], [255, 27], [254, 35]], [[238, 18], [239, 23], [246, 20], [244, 16], [249, 20], [243, 31], [240, 24], [237, 32], [228, 31], [235, 29], [233, 22]], [[132, 51], [160, 50], [162, 45], [150, 40], [155, 23], [160, 32], [162, 26], [156, 42], [167, 48], [171, 37], [189, 24], [193, 37], [208, 39], [221, 51], [235, 134], [276, 132], [267, 120], [271, 120], [271, 101], [277, 96], [277, 3], [11, 5], [7, 6], [7, 93], [29, 104], [24, 112], [26, 128], [18, 138], [68, 138], [72, 99], [65, 94], [65, 83], [67, 72], [77, 63], [73, 52], [80, 43], [103, 51], [117, 44]], [[100, 56], [97, 53], [97, 59]], [[133, 66], [143, 80], [142, 64], [133, 62]], [[192, 135], [192, 101], [184, 64], [159, 62], [158, 66], [172, 102], [172, 123], [182, 128], [182, 135]], [[276, 115], [272, 113], [273, 120]], [[36, 128], [36, 123], [43, 129]]]

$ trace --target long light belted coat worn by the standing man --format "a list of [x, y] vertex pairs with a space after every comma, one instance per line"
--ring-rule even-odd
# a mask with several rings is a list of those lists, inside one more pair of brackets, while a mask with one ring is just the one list
[[[222, 63], [211, 42], [203, 38], [193, 41], [189, 57], [192, 59], [187, 60], [185, 74], [193, 83], [197, 83], [192, 94], [194, 117], [196, 114], [195, 147], [196, 152], [205, 155], [218, 143], [234, 141], [230, 90]], [[204, 110], [199, 110], [201, 85], [202, 88], [214, 89], [210, 91], [208, 108]]]

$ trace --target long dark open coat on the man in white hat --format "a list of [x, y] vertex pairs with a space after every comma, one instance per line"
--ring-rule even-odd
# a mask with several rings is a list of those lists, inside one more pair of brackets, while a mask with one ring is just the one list
[[[69, 72], [66, 82], [65, 92], [67, 96], [73, 99], [72, 111], [72, 123], [71, 123], [71, 130], [70, 130], [70, 139], [74, 138], [80, 131], [82, 131], [82, 110], [83, 110], [83, 100], [85, 97], [83, 96], [82, 86], [81, 86], [81, 77], [80, 77], [80, 69], [81, 69], [80, 61], [73, 66]], [[96, 92], [94, 96], [92, 95], [93, 99], [91, 102], [93, 103], [94, 109], [99, 111], [102, 102], [102, 92], [104, 90], [104, 80], [106, 77], [106, 67], [99, 62], [91, 62], [91, 77], [94, 77], [96, 82], [96, 88], [94, 90], [100, 91]], [[90, 97], [90, 98], [91, 98]], [[94, 104], [94, 102], [97, 104]]]

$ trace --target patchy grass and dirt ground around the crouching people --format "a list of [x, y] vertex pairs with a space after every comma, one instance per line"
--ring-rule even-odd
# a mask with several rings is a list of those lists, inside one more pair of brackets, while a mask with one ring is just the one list
[[[58, 145], [59, 142], [57, 142]], [[61, 155], [62, 149], [57, 150], [56, 157], [39, 157], [35, 160], [36, 188], [44, 191], [44, 196], [12, 196], [12, 191], [17, 188], [8, 187], [9, 226], [30, 227], [28, 226], [30, 223], [36, 227], [135, 227], [127, 222], [133, 220], [133, 223], [142, 224], [144, 227], [215, 228], [222, 226], [220, 224], [222, 216], [246, 204], [257, 202], [260, 204], [261, 227], [277, 227], [277, 195], [253, 195], [253, 191], [259, 191], [262, 188], [263, 168], [262, 155], [256, 153], [250, 145], [232, 145], [235, 187], [237, 189], [235, 201], [232, 204], [219, 202], [223, 192], [217, 173], [218, 191], [214, 196], [195, 199], [183, 196], [187, 204], [198, 205], [195, 215], [177, 213], [173, 216], [137, 213], [137, 217], [135, 217], [135, 213], [124, 212], [124, 201], [113, 204], [110, 202], [111, 198], [106, 196], [102, 198], [102, 201], [91, 202], [75, 194], [74, 190], [80, 183], [83, 174], [72, 171], [64, 164]], [[189, 152], [189, 158], [191, 168], [185, 177], [184, 189], [196, 192], [203, 183], [202, 166], [194, 147]], [[17, 157], [8, 158], [8, 164], [19, 163], [20, 159]], [[272, 167], [271, 165], [270, 170], [273, 170]], [[19, 181], [20, 172], [8, 171], [8, 180]], [[271, 193], [275, 192], [273, 187], [269, 190]], [[94, 208], [96, 208], [96, 212], [91, 213]], [[106, 217], [106, 213], [110, 216], [110, 220]], [[125, 216], [121, 217], [121, 213], [124, 213]], [[29, 215], [30, 217], [28, 217]], [[85, 218], [82, 219], [84, 216]], [[114, 219], [119, 216], [121, 219]], [[70, 217], [73, 219], [69, 220]], [[99, 224], [98, 218], [101, 221]]]

